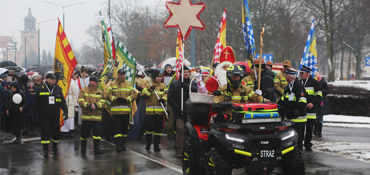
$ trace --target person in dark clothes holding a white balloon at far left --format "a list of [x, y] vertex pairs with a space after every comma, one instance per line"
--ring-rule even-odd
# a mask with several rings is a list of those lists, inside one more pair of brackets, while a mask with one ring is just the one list
[[11, 116], [14, 121], [15, 140], [13, 143], [20, 143], [20, 120], [22, 118], [22, 111], [27, 105], [24, 93], [19, 90], [18, 82], [13, 81], [10, 83], [11, 91], [7, 96], [5, 106], [6, 114]]

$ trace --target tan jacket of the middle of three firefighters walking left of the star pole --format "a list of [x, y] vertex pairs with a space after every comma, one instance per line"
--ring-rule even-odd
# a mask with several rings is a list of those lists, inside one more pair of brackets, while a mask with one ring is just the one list
[[[118, 97], [125, 98], [127, 103], [116, 102]], [[111, 102], [110, 113], [112, 115], [130, 114], [131, 102], [135, 99], [135, 90], [131, 82], [117, 79], [109, 83], [106, 89], [106, 98]]]

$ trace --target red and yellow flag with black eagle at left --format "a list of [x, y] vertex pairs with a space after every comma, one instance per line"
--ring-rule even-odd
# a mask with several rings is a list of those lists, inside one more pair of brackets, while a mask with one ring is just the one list
[[[62, 88], [64, 98], [68, 94], [72, 73], [76, 64], [77, 60], [74, 57], [72, 48], [58, 18], [54, 55], [54, 75], [56, 76], [56, 84]], [[64, 125], [64, 120], [61, 114], [62, 111], [60, 111], [60, 127]]]

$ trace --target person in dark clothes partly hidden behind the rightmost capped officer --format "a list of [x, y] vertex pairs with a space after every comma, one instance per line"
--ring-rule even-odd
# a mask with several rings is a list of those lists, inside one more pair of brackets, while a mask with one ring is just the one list
[[316, 135], [317, 133], [317, 136], [321, 137], [323, 115], [330, 114], [329, 100], [327, 99], [327, 94], [330, 93], [330, 87], [327, 85], [327, 81], [325, 80], [325, 78], [321, 77], [320, 75], [317, 76], [317, 81], [321, 87], [322, 100], [320, 101], [320, 105], [317, 105], [316, 120], [315, 125], [313, 127], [313, 135]]

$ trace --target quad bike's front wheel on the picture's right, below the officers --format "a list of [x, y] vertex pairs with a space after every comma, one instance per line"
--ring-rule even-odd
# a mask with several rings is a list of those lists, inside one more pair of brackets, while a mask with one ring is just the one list
[[282, 155], [280, 165], [286, 175], [304, 175], [305, 173], [303, 154], [298, 149]]

